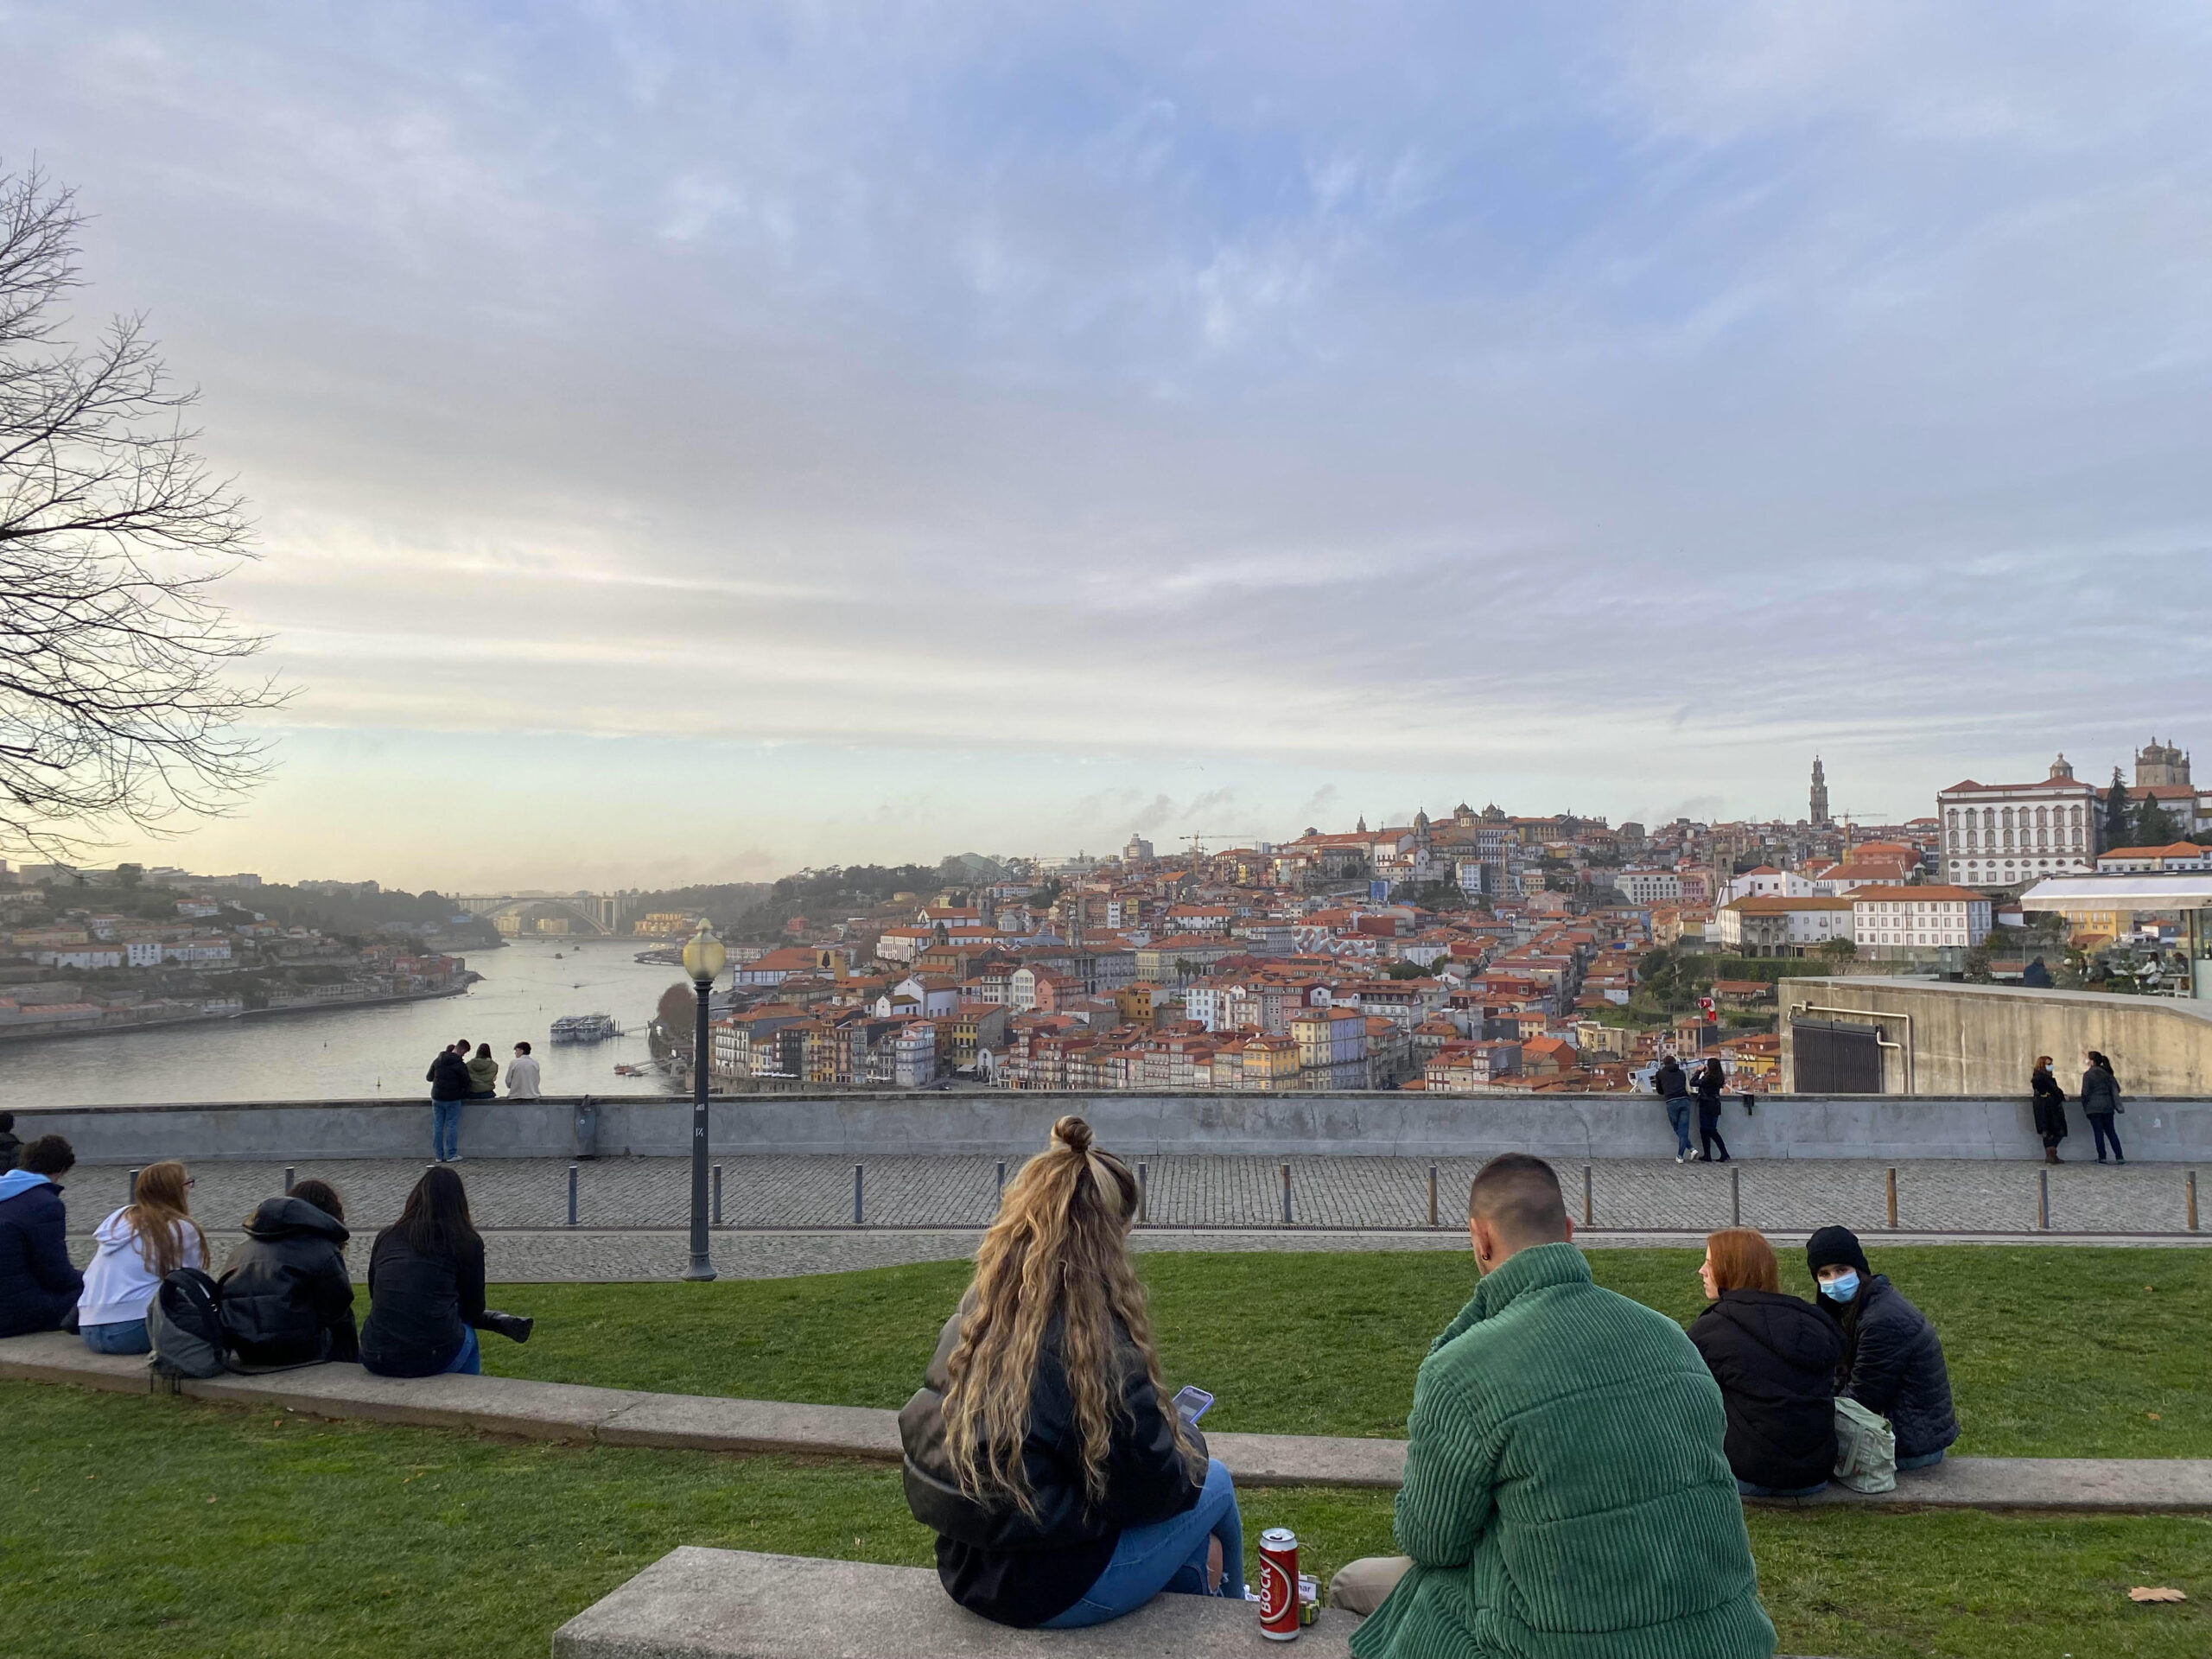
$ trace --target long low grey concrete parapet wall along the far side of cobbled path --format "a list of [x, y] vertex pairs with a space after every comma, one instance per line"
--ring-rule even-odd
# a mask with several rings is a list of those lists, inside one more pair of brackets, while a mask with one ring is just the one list
[[[1020, 1159], [1040, 1150], [1062, 1113], [1093, 1121], [1099, 1144], [1126, 1157], [1214, 1152], [1248, 1157], [1663, 1157], [1674, 1150], [1666, 1110], [1650, 1095], [743, 1095], [717, 1099], [710, 1144], [719, 1157], [969, 1155]], [[467, 1157], [575, 1157], [584, 1150], [575, 1099], [484, 1102], [462, 1108]], [[591, 1099], [604, 1157], [679, 1157], [690, 1150], [690, 1106], [666, 1095]], [[2079, 1117], [2079, 1113], [2077, 1113]], [[2121, 1119], [2128, 1157], [2212, 1159], [2212, 1099], [2141, 1099]], [[1730, 1099], [1730, 1148], [1752, 1159], [1818, 1157], [2037, 1157], [2026, 1095], [1767, 1097], [1754, 1113]], [[2079, 1130], [2088, 1133], [2086, 1124]], [[77, 1106], [18, 1113], [24, 1139], [69, 1135], [84, 1161], [427, 1157], [429, 1106], [296, 1102], [239, 1106]]]

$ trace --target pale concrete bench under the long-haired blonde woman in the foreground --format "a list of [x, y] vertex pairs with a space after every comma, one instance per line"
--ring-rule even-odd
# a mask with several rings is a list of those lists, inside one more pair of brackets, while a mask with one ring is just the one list
[[[1358, 1619], [1323, 1610], [1290, 1652], [1349, 1659]], [[553, 1632], [553, 1659], [1261, 1659], [1259, 1608], [1159, 1595], [1091, 1630], [978, 1619], [920, 1566], [670, 1551]]]

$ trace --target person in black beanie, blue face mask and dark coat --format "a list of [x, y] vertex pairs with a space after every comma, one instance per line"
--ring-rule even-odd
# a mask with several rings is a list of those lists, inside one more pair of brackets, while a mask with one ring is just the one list
[[1805, 1265], [1820, 1285], [1820, 1312], [1843, 1332], [1836, 1394], [1889, 1418], [1898, 1436], [1898, 1469], [1942, 1462], [1958, 1440], [1951, 1371], [1942, 1338], [1927, 1314], [1905, 1301], [1849, 1228], [1820, 1228], [1805, 1241]]

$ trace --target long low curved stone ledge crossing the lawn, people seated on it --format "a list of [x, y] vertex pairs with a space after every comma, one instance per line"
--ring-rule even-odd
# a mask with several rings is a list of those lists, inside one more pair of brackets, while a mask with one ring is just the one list
[[[75, 1383], [111, 1391], [170, 1391], [144, 1358], [93, 1354], [75, 1336], [0, 1338], [0, 1376]], [[367, 1418], [526, 1440], [597, 1440], [615, 1447], [774, 1451], [898, 1460], [898, 1416], [847, 1405], [726, 1400], [706, 1394], [595, 1389], [513, 1376], [369, 1376], [358, 1365], [310, 1365], [268, 1376], [186, 1378], [197, 1400], [285, 1407], [319, 1418]], [[1210, 1451], [1239, 1486], [1352, 1486], [1394, 1491], [1405, 1480], [1402, 1440], [1217, 1433]], [[2212, 1458], [1947, 1458], [1898, 1475], [1889, 1493], [1829, 1486], [1814, 1498], [1761, 1504], [1871, 1504], [1933, 1509], [2212, 1511]]]

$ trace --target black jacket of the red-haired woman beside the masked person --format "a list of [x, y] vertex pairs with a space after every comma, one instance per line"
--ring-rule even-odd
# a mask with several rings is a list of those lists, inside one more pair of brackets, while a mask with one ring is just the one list
[[1843, 1332], [1774, 1290], [1723, 1290], [1690, 1340], [1728, 1407], [1728, 1467], [1774, 1491], [1818, 1486], [1836, 1469], [1836, 1365]]

